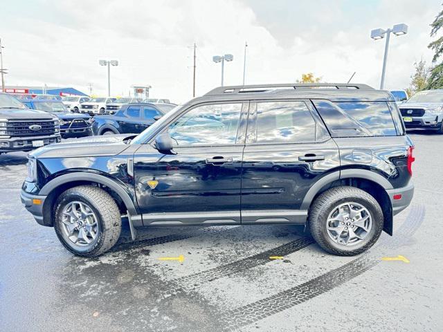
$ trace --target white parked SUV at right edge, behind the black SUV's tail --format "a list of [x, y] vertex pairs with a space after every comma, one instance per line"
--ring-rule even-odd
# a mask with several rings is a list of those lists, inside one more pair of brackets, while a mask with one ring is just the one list
[[443, 133], [443, 89], [417, 92], [399, 108], [406, 129]]

